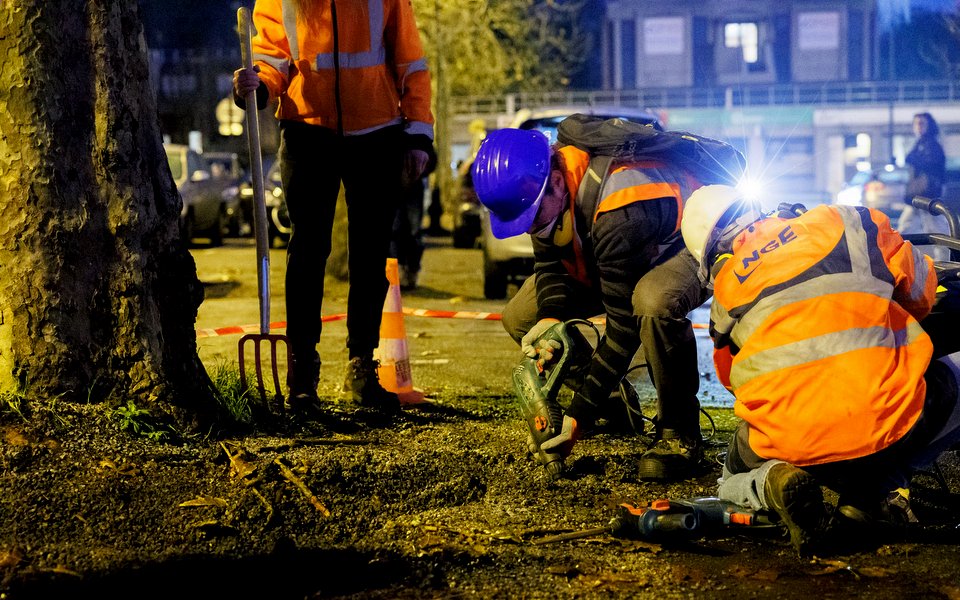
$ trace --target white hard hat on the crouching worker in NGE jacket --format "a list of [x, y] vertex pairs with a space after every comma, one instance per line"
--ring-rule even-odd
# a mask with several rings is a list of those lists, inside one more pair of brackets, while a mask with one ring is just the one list
[[734, 221], [739, 232], [762, 216], [756, 202], [729, 185], [705, 185], [690, 194], [683, 204], [680, 232], [690, 254], [700, 263], [702, 281], [707, 280], [710, 251], [721, 233]]

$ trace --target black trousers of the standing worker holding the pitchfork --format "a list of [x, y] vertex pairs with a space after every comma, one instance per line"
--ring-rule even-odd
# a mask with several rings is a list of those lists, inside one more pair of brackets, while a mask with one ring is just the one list
[[399, 126], [339, 136], [325, 127], [280, 123], [280, 177], [293, 228], [285, 278], [287, 339], [295, 356], [312, 355], [320, 341], [323, 280], [341, 183], [349, 237], [347, 348], [351, 357], [363, 356], [379, 344], [403, 136]]

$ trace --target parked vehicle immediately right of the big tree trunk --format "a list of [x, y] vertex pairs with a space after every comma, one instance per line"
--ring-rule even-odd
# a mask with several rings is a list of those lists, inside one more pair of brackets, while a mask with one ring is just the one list
[[228, 193], [230, 179], [214, 174], [202, 154], [183, 144], [164, 144], [167, 164], [183, 201], [181, 235], [188, 242], [207, 238], [211, 246], [223, 244], [228, 214], [237, 210], [236, 194]]

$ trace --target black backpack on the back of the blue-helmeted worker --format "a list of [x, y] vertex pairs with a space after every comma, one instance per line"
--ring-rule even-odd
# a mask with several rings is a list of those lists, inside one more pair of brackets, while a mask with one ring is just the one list
[[743, 154], [726, 142], [619, 118], [570, 115], [557, 127], [557, 141], [591, 157], [671, 162], [704, 185], [736, 185], [747, 166]]

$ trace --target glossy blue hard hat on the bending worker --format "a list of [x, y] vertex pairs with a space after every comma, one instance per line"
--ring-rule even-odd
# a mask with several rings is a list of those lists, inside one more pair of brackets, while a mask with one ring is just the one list
[[550, 180], [550, 142], [534, 129], [498, 129], [480, 144], [473, 189], [497, 238], [529, 231]]

